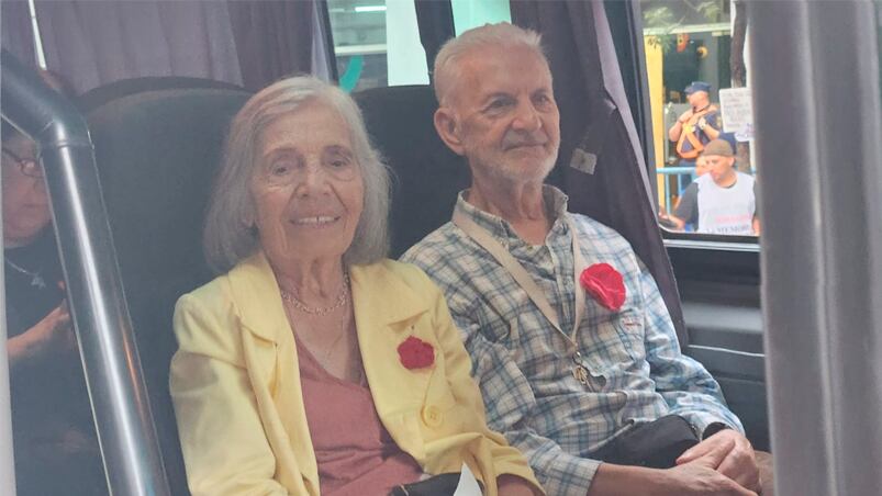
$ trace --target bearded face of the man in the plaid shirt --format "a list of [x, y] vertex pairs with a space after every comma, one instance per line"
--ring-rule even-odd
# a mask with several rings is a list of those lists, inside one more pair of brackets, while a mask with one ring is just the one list
[[548, 65], [527, 47], [481, 47], [459, 69], [435, 119], [442, 138], [476, 179], [542, 182], [560, 146]]

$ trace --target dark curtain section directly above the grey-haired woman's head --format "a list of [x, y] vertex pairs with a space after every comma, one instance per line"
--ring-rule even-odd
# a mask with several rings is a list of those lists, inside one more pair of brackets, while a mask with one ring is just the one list
[[311, 71], [314, 1], [226, 4], [245, 88], [256, 91], [283, 76]]

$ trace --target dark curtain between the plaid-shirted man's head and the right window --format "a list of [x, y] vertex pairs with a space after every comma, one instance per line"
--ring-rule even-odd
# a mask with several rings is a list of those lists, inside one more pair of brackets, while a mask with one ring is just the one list
[[560, 105], [560, 157], [551, 182], [570, 210], [616, 229], [661, 290], [680, 342], [688, 336], [656, 219], [646, 164], [600, 0], [512, 0], [512, 21], [543, 35]]

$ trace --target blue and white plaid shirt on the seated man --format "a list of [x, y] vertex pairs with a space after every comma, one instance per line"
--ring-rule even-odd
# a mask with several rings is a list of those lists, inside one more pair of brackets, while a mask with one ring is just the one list
[[726, 408], [719, 385], [680, 352], [677, 334], [652, 275], [628, 243], [589, 217], [567, 212], [567, 196], [546, 187], [555, 223], [545, 245], [531, 246], [502, 218], [479, 211], [459, 194], [456, 208], [505, 247], [545, 292], [561, 328], [573, 325], [572, 233], [585, 263], [606, 262], [622, 273], [627, 296], [611, 312], [590, 295], [577, 341], [591, 372], [572, 375], [567, 340], [554, 329], [496, 260], [453, 223], [402, 257], [425, 270], [447, 295], [464, 334], [487, 406], [489, 426], [521, 449], [552, 495], [583, 496], [601, 462], [589, 453], [635, 422], [678, 414], [699, 431], [722, 421], [744, 431]]

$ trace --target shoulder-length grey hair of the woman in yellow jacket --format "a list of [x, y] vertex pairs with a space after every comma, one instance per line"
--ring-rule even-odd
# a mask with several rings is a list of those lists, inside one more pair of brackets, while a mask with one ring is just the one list
[[389, 169], [371, 146], [361, 111], [339, 88], [310, 76], [297, 76], [252, 97], [230, 126], [203, 235], [205, 258], [217, 273], [228, 271], [259, 247], [250, 183], [257, 169], [261, 134], [279, 117], [295, 113], [308, 102], [321, 102], [339, 112], [349, 127], [353, 154], [365, 184], [364, 210], [353, 244], [344, 253], [344, 263], [371, 263], [387, 256]]

